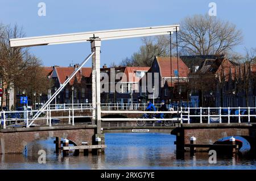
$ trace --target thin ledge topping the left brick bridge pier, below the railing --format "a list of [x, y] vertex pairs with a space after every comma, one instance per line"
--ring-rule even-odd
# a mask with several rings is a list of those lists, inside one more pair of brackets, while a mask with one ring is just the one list
[[53, 127], [32, 127], [32, 128], [7, 128], [1, 129], [2, 133], [11, 133], [11, 132], [32, 132], [32, 131], [52, 131], [52, 130], [65, 130], [65, 129], [92, 129], [97, 128], [97, 125], [57, 125]]

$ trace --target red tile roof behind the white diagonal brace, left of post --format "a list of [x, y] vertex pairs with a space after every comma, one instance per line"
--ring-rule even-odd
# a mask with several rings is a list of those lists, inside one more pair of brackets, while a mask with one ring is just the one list
[[[75, 71], [75, 68], [55, 67], [55, 70], [57, 72], [57, 76], [59, 78], [60, 83], [64, 83], [67, 77], [69, 77], [73, 73], [73, 71]], [[91, 74], [92, 68], [81, 68], [81, 70], [78, 73], [76, 73], [75, 77], [77, 78], [77, 81], [80, 82], [82, 77], [88, 78]], [[71, 79], [69, 84], [73, 85], [75, 77]]]

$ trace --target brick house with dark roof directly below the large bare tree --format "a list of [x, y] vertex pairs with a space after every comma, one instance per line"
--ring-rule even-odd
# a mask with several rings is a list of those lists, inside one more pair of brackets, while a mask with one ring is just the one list
[[192, 107], [215, 106], [216, 71], [224, 55], [180, 56], [189, 68], [188, 101]]

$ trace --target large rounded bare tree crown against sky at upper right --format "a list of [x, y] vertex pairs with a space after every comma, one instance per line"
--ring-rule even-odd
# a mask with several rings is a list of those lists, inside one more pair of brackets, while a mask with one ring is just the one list
[[242, 32], [215, 16], [194, 15], [180, 24], [178, 46], [184, 54], [222, 54], [242, 43]]

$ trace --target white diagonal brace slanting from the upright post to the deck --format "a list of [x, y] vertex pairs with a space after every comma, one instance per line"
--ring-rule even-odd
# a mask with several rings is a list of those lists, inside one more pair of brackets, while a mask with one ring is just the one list
[[55, 99], [55, 97], [60, 93], [61, 90], [64, 89], [64, 87], [68, 84], [69, 81], [71, 81], [71, 79], [76, 75], [76, 73], [82, 68], [82, 66], [85, 65], [85, 63], [90, 59], [90, 57], [92, 57], [94, 54], [94, 52], [92, 52], [91, 54], [89, 54], [85, 60], [81, 63], [81, 65], [75, 70], [73, 71], [73, 73], [67, 78], [67, 80], [59, 87], [59, 89], [57, 89], [54, 94], [51, 96], [51, 98], [49, 98], [47, 100], [47, 102], [42, 106], [42, 108], [40, 108], [40, 110], [38, 112], [36, 112], [36, 114], [32, 117], [31, 123], [27, 124], [27, 128], [29, 128], [34, 121], [40, 116], [40, 114], [46, 110], [46, 108], [49, 106], [49, 104], [52, 102], [53, 99]]

